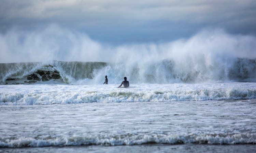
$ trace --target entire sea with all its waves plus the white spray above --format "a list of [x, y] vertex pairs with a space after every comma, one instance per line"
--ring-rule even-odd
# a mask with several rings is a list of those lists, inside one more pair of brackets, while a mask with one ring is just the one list
[[1, 34], [0, 151], [255, 152], [255, 42], [223, 30], [120, 46], [56, 25]]

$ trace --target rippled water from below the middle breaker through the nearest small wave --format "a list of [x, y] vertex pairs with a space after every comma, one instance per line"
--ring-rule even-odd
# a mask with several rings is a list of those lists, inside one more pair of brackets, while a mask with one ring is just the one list
[[2, 106], [0, 147], [255, 144], [255, 100]]

